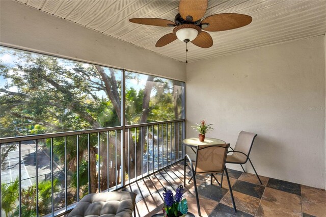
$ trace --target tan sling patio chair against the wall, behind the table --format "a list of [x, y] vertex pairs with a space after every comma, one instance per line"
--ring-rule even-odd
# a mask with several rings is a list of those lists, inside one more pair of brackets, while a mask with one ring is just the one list
[[[251, 148], [253, 147], [254, 144], [254, 140], [257, 137], [257, 134], [252, 133], [252, 132], [245, 132], [245, 131], [241, 131], [239, 133], [239, 137], [238, 140], [236, 141], [235, 147], [234, 149], [232, 149], [232, 151], [228, 151], [228, 153], [232, 153], [231, 155], [227, 155], [226, 158], [226, 162], [228, 164], [239, 164], [244, 171], [242, 164], [246, 164], [246, 162], [249, 160], [251, 166], [253, 167], [256, 176], [260, 182], [260, 184], [263, 184], [254, 168], [253, 163], [251, 162], [250, 158], [249, 158], [249, 154], [251, 151]], [[223, 176], [222, 176], [223, 178]], [[223, 181], [223, 179], [221, 180], [221, 182]]]

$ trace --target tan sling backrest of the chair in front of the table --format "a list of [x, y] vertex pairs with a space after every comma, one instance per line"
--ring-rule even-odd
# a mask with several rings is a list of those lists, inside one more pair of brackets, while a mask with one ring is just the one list
[[219, 173], [225, 168], [230, 144], [201, 145], [197, 147], [196, 173]]

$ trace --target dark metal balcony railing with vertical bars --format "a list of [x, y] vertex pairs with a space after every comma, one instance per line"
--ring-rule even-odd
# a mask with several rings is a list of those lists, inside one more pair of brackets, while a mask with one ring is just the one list
[[181, 119], [0, 139], [0, 152], [13, 147], [0, 179], [18, 192], [10, 214], [60, 215], [87, 194], [151, 175], [182, 159], [184, 134]]

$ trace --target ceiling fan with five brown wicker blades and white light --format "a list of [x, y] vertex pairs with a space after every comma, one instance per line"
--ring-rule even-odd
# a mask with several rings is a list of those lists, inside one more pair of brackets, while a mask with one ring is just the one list
[[159, 18], [133, 18], [129, 21], [145, 25], [174, 27], [172, 33], [158, 39], [156, 47], [165, 46], [179, 39], [185, 43], [192, 42], [202, 48], [213, 45], [212, 37], [204, 31], [232, 30], [248, 25], [252, 21], [251, 16], [235, 13], [214, 14], [201, 20], [206, 13], [207, 5], [208, 0], [180, 0], [179, 13], [175, 16], [174, 22]]

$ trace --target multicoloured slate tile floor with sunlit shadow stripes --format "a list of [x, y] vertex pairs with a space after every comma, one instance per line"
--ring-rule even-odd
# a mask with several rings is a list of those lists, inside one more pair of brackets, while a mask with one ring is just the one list
[[[209, 176], [196, 177], [202, 216], [325, 216], [326, 192], [278, 179], [260, 176], [260, 185], [254, 174], [230, 170], [230, 182], [237, 212], [233, 211], [226, 177], [222, 188], [214, 182], [210, 185]], [[198, 216], [193, 181], [188, 184], [186, 175], [184, 197], [189, 211]], [[221, 176], [216, 175], [221, 180]], [[160, 213], [163, 207], [163, 187], [175, 190], [183, 184], [182, 164], [174, 165], [164, 171], [144, 178], [122, 191], [138, 194], [137, 216], [152, 216]]]

